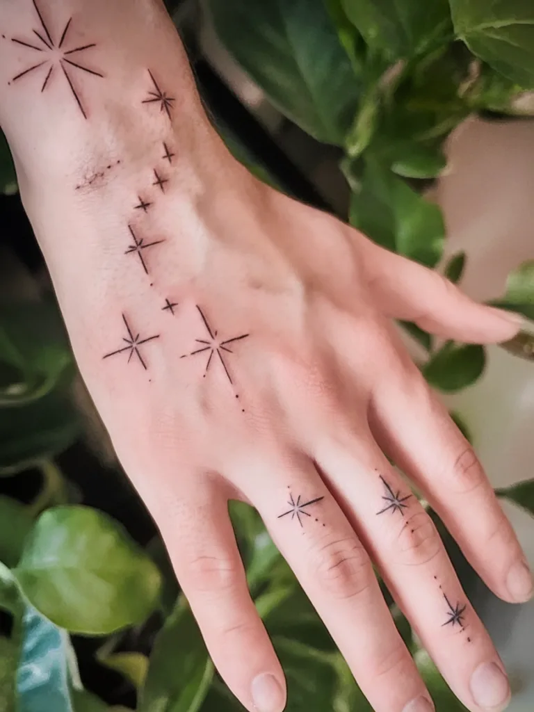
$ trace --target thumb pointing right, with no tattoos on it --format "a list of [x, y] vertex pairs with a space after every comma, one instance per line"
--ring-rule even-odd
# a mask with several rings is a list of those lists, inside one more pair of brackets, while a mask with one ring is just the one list
[[464, 342], [497, 343], [518, 333], [520, 316], [476, 303], [438, 272], [367, 239], [362, 244], [373, 297], [384, 315]]

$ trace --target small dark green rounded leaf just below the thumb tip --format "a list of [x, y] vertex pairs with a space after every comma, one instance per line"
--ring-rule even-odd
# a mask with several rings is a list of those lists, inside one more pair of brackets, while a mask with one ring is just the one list
[[431, 386], [454, 393], [475, 383], [485, 366], [486, 352], [482, 346], [448, 341], [424, 365], [423, 375]]

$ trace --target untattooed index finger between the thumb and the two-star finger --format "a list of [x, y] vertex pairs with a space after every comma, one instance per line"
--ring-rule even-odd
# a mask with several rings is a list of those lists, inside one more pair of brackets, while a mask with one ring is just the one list
[[528, 600], [532, 577], [513, 528], [473, 449], [409, 359], [375, 387], [370, 422], [491, 590]]

